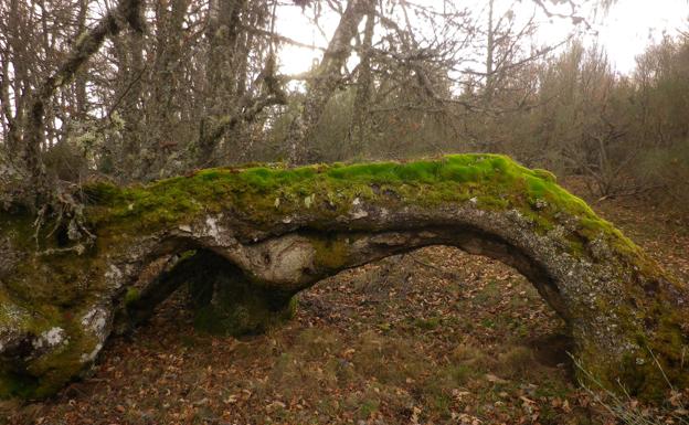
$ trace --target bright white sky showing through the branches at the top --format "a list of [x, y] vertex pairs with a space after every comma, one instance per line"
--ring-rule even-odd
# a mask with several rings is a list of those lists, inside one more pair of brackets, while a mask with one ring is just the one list
[[[463, 0], [473, 6], [475, 10], [485, 7], [485, 0]], [[439, 0], [416, 1], [431, 6], [441, 6]], [[517, 15], [529, 17], [534, 9], [534, 3], [528, 0], [505, 1], [497, 0], [507, 8], [516, 4]], [[594, 1], [583, 1], [593, 4]], [[496, 8], [497, 9], [497, 8]], [[308, 14], [308, 10], [306, 11]], [[597, 31], [597, 43], [603, 45], [617, 71], [629, 73], [635, 65], [635, 56], [653, 43], [659, 41], [664, 33], [676, 35], [678, 30], [685, 30], [689, 17], [689, 2], [687, 0], [618, 0], [617, 3], [605, 14], [598, 11], [594, 14], [593, 7], [582, 7], [580, 15], [586, 17], [592, 23], [592, 31], [584, 36], [587, 43], [594, 43]], [[337, 15], [328, 13], [321, 17], [320, 25], [329, 38], [337, 24]], [[539, 32], [541, 43], [548, 44], [563, 40], [573, 30], [569, 20], [552, 19], [549, 22], [542, 13], [540, 21], [543, 22]], [[580, 30], [583, 30], [580, 25]], [[304, 15], [299, 7], [282, 7], [278, 11], [277, 31], [294, 40], [325, 47], [327, 39]], [[282, 70], [287, 74], [296, 74], [307, 71], [320, 52], [310, 51], [296, 46], [284, 46], [280, 55]]]

